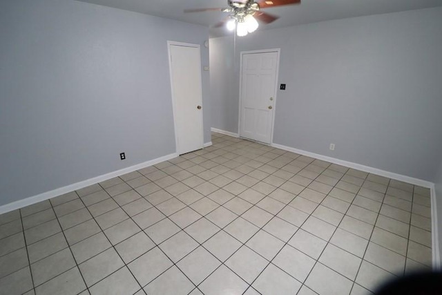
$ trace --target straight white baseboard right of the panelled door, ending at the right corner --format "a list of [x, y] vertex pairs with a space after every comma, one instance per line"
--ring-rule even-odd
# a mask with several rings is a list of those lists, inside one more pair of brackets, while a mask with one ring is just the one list
[[348, 162], [348, 161], [345, 161], [345, 160], [339, 160], [339, 159], [336, 159], [336, 158], [328, 157], [327, 155], [320, 155], [318, 153], [311, 153], [309, 151], [302, 151], [300, 149], [295, 149], [295, 148], [292, 148], [290, 146], [283, 146], [282, 144], [272, 143], [271, 146], [276, 147], [277, 149], [282, 149], [284, 151], [291, 151], [292, 153], [299, 153], [300, 155], [307, 155], [307, 157], [316, 158], [318, 160], [323, 160], [323, 161], [331, 162], [331, 163], [334, 163], [334, 164], [346, 166], [346, 167], [349, 167], [349, 168], [365, 171], [365, 172], [368, 172], [368, 173], [373, 173], [373, 174], [376, 174], [376, 175], [381, 175], [381, 176], [386, 177], [386, 178], [392, 178], [394, 180], [400, 180], [400, 181], [407, 182], [407, 183], [410, 183], [410, 184], [419, 185], [420, 187], [426, 187], [428, 189], [431, 189], [432, 184], [433, 184], [432, 182], [429, 182], [429, 181], [426, 181], [426, 180], [420, 180], [419, 178], [412, 178], [410, 176], [401, 175], [401, 174], [398, 174], [398, 173], [393, 173], [393, 172], [390, 172], [390, 171], [385, 171], [385, 170], [373, 168], [373, 167], [370, 167], [370, 166], [365, 166], [365, 165], [362, 165], [362, 164], [357, 164], [357, 163], [354, 163], [354, 162]]

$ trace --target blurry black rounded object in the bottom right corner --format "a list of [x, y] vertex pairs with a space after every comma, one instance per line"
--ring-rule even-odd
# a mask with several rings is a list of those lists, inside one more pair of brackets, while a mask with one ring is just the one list
[[391, 280], [378, 288], [376, 295], [440, 295], [442, 272], [419, 272]]

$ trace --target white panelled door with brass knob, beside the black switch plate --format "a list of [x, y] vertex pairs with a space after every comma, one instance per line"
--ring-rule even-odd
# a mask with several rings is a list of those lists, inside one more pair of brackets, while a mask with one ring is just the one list
[[241, 54], [241, 137], [271, 142], [278, 54], [278, 51]]

